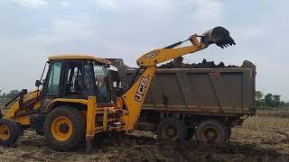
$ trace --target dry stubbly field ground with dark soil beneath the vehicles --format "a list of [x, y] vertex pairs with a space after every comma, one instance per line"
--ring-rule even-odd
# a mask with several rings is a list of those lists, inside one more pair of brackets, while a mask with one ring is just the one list
[[222, 146], [190, 141], [158, 142], [154, 133], [135, 131], [96, 141], [91, 155], [85, 146], [56, 152], [42, 136], [25, 131], [17, 143], [0, 147], [0, 161], [289, 161], [289, 118], [255, 116], [232, 130]]

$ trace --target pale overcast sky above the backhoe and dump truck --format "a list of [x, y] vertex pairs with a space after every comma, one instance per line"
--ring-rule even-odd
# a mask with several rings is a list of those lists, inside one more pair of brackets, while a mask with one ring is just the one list
[[33, 89], [51, 55], [124, 58], [135, 66], [147, 51], [220, 25], [237, 45], [213, 45], [184, 61], [250, 60], [256, 88], [289, 101], [288, 6], [286, 0], [1, 0], [0, 89]]

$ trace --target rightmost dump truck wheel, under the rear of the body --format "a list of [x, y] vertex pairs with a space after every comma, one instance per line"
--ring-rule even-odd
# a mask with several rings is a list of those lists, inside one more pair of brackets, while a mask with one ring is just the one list
[[205, 143], [224, 143], [228, 138], [228, 131], [224, 124], [216, 120], [201, 121], [197, 126], [196, 138]]

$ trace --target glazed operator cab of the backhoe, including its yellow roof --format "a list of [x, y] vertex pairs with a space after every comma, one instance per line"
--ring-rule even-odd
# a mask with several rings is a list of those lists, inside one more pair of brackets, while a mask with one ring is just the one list
[[107, 70], [110, 62], [107, 59], [57, 56], [49, 58], [48, 64], [43, 82], [35, 83], [42, 85], [42, 107], [56, 98], [88, 99], [93, 95], [97, 96], [98, 103], [111, 104]]

